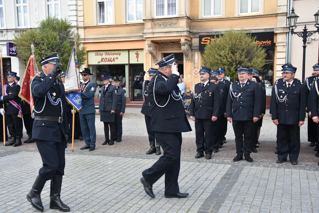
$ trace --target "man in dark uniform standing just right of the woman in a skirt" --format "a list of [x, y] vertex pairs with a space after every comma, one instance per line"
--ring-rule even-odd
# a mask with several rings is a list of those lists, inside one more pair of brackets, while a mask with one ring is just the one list
[[126, 91], [119, 86], [120, 78], [119, 76], [114, 76], [113, 85], [116, 87], [116, 108], [115, 108], [115, 134], [114, 141], [122, 141], [122, 119], [125, 113], [126, 107]]

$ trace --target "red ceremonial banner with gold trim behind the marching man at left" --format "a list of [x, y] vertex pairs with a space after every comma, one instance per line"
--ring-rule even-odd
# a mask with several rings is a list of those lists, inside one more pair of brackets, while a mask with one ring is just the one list
[[35, 57], [34, 55], [31, 55], [22, 78], [22, 84], [19, 92], [19, 97], [30, 104], [31, 116], [33, 116], [34, 108], [33, 98], [31, 95], [31, 80], [38, 75], [39, 70], [37, 63], [35, 62]]

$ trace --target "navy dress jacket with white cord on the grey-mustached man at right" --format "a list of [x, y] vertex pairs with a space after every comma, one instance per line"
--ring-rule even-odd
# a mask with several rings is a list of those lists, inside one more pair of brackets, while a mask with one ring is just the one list
[[271, 119], [278, 119], [279, 124], [298, 124], [305, 120], [307, 105], [307, 90], [298, 82], [293, 81], [288, 92], [287, 82], [280, 82], [277, 87], [280, 99], [286, 97], [286, 100], [280, 102], [276, 95], [276, 88], [271, 94]]

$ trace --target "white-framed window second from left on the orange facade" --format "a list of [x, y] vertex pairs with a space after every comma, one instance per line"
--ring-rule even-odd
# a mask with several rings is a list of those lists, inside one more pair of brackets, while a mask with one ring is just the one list
[[126, 1], [126, 18], [128, 22], [142, 21], [143, 3], [142, 0]]

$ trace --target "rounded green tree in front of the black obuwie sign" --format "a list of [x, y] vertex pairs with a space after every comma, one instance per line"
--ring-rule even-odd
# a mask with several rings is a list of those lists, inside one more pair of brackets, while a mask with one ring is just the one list
[[246, 34], [244, 30], [226, 31], [219, 38], [213, 38], [206, 45], [203, 53], [203, 62], [205, 67], [225, 69], [225, 75], [231, 80], [238, 79], [236, 69], [239, 66], [249, 66], [251, 68], [261, 69], [265, 63], [265, 50], [255, 44], [256, 37]]

